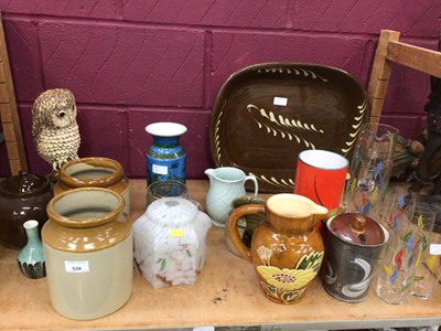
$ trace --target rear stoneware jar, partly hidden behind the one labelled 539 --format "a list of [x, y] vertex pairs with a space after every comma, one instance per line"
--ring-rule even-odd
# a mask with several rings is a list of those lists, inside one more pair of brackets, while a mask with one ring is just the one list
[[82, 158], [64, 164], [58, 171], [54, 193], [80, 188], [104, 188], [118, 192], [126, 200], [126, 213], [130, 214], [130, 184], [118, 161], [108, 158]]

